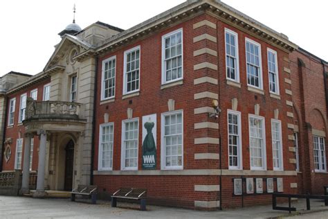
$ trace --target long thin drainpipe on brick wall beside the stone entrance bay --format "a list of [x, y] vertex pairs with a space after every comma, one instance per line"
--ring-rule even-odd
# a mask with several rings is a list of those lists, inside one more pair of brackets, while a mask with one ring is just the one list
[[93, 89], [93, 118], [92, 118], [92, 144], [91, 144], [91, 169], [90, 184], [93, 185], [93, 161], [95, 155], [95, 106], [97, 100], [98, 57], [95, 57], [95, 87]]

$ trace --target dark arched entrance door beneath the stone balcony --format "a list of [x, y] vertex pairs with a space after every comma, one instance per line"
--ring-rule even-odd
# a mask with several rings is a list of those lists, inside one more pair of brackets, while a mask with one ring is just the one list
[[74, 142], [69, 141], [66, 145], [66, 159], [65, 159], [65, 182], [64, 190], [72, 191], [73, 184], [73, 164], [74, 164]]

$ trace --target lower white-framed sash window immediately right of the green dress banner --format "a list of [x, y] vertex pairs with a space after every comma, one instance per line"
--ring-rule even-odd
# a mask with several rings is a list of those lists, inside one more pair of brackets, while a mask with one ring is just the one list
[[183, 111], [162, 114], [162, 169], [183, 168]]

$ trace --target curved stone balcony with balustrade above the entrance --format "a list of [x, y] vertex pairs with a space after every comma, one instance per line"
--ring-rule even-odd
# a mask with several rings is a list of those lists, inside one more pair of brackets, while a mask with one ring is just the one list
[[77, 131], [83, 130], [84, 105], [63, 101], [26, 100], [26, 116], [23, 124], [27, 132], [37, 130]]

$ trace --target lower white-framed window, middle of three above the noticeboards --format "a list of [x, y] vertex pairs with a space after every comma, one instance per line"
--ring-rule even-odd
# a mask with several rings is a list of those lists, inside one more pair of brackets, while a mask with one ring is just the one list
[[249, 149], [250, 169], [264, 170], [266, 168], [266, 146], [264, 118], [249, 116]]

